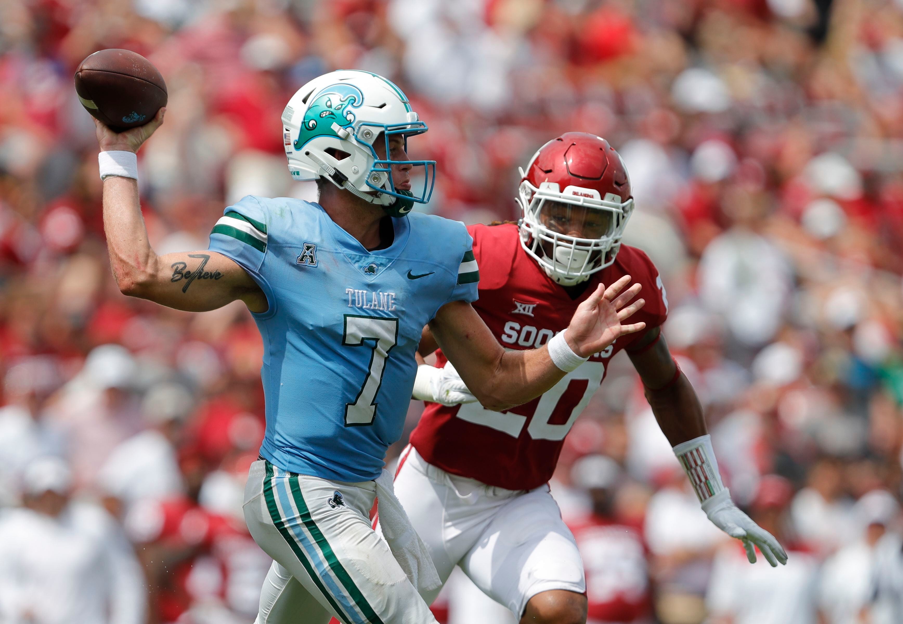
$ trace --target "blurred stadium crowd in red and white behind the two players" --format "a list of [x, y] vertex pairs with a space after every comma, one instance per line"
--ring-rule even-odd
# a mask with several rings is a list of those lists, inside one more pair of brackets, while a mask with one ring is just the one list
[[[468, 223], [517, 219], [548, 139], [605, 136], [721, 473], [790, 562], [749, 565], [707, 522], [615, 359], [553, 483], [591, 621], [903, 621], [903, 1], [4, 0], [0, 622], [251, 622], [269, 563], [241, 515], [253, 321], [111, 279], [72, 84], [103, 48], [169, 88], [140, 154], [158, 253], [206, 248], [248, 193], [315, 199], [279, 116], [329, 70], [405, 89], [430, 126], [410, 151], [439, 163], [424, 210]], [[459, 576], [434, 609], [514, 621]]]

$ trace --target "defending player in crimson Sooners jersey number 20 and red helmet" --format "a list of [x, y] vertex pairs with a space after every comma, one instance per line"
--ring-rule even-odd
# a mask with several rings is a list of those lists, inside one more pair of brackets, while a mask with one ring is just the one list
[[[660, 335], [667, 298], [656, 267], [620, 243], [633, 200], [618, 153], [598, 136], [568, 133], [521, 173], [523, 219], [469, 228], [480, 269], [473, 307], [499, 344], [545, 345], [597, 284], [625, 275], [642, 284], [646, 305], [636, 316], [646, 331], [621, 336], [544, 395], [501, 412], [476, 402], [441, 350], [439, 368], [419, 368], [414, 398], [433, 403], [399, 461], [395, 487], [442, 581], [459, 565], [522, 622], [585, 622], [581, 557], [547, 481], [564, 437], [621, 349], [712, 522], [743, 540], [750, 561], [756, 545], [769, 563], [784, 563], [774, 537], [734, 507], [721, 484], [702, 408]], [[420, 353], [439, 346], [424, 328]]]

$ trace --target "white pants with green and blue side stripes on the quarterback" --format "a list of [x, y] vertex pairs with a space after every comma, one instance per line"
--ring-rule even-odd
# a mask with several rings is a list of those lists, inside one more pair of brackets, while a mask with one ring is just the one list
[[297, 475], [251, 464], [247, 528], [274, 562], [256, 624], [424, 624], [433, 613], [370, 525], [374, 481]]

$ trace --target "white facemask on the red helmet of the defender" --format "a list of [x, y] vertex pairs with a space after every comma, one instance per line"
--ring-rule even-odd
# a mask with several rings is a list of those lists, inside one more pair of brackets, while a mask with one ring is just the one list
[[[521, 245], [545, 273], [563, 286], [590, 278], [614, 262], [633, 200], [617, 195], [542, 182], [537, 189], [521, 182], [518, 203], [524, 210]], [[575, 233], [579, 232], [580, 236]]]

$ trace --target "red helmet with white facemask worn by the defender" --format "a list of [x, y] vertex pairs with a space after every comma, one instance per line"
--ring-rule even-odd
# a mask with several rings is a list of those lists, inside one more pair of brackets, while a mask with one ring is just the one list
[[633, 197], [608, 141], [566, 133], [540, 147], [520, 174], [520, 244], [555, 282], [579, 284], [614, 262]]

